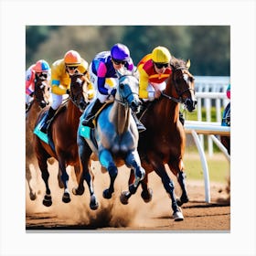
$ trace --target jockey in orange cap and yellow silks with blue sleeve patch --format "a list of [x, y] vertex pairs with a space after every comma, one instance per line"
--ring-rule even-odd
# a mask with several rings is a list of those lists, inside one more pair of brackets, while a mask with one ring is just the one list
[[[59, 105], [62, 103], [64, 94], [69, 94], [70, 91], [70, 76], [75, 73], [82, 73], [89, 79], [88, 62], [80, 57], [80, 54], [75, 50], [69, 50], [64, 59], [56, 60], [51, 67], [51, 93], [52, 104], [48, 110], [46, 119], [42, 125], [41, 132], [48, 132], [48, 124], [53, 118]], [[88, 84], [89, 101], [94, 98], [94, 88]]]

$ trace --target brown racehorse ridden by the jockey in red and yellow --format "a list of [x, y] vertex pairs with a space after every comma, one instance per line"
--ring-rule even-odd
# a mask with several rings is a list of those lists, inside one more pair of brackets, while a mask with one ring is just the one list
[[[179, 103], [183, 103], [189, 112], [196, 106], [194, 77], [188, 71], [190, 60], [172, 59], [170, 66], [172, 75], [166, 80], [165, 91], [158, 100], [147, 102], [147, 107], [140, 120], [146, 131], [140, 133], [138, 151], [145, 169], [144, 180], [141, 181], [142, 194], [145, 202], [152, 198], [152, 189], [147, 187], [148, 174], [155, 171], [160, 176], [165, 191], [171, 197], [173, 218], [183, 220], [179, 206], [188, 201], [185, 183], [183, 156], [186, 146], [186, 133], [179, 121]], [[168, 176], [165, 164], [177, 177], [182, 189], [180, 199], [176, 199], [174, 183]], [[133, 183], [133, 172], [129, 178], [129, 185]], [[123, 191], [120, 199], [123, 204], [128, 203], [131, 191]]]

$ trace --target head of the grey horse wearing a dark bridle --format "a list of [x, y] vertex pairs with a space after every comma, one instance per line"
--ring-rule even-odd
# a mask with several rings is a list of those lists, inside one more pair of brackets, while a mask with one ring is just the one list
[[121, 74], [118, 72], [119, 85], [117, 86], [117, 93], [115, 98], [121, 101], [137, 112], [141, 101], [139, 99], [139, 80], [133, 75], [133, 72], [126, 71]]

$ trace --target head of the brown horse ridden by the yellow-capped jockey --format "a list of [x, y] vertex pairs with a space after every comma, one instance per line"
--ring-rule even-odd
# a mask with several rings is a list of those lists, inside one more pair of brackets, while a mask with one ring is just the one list
[[173, 70], [171, 78], [174, 83], [176, 97], [185, 104], [189, 112], [192, 112], [196, 108], [197, 100], [195, 97], [195, 79], [188, 71], [190, 60], [172, 59], [170, 64]]

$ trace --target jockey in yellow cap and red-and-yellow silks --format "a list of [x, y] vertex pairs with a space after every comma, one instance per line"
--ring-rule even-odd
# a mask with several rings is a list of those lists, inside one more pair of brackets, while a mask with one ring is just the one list
[[[172, 74], [171, 59], [169, 50], [158, 46], [139, 61], [139, 96], [143, 101], [154, 101], [161, 96], [166, 87], [165, 80]], [[179, 112], [179, 119], [184, 124], [181, 112]]]

